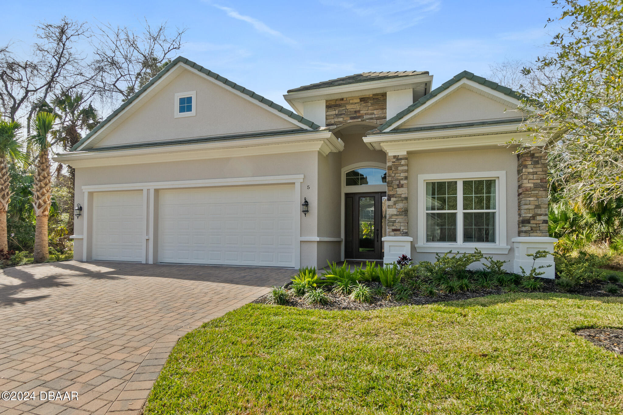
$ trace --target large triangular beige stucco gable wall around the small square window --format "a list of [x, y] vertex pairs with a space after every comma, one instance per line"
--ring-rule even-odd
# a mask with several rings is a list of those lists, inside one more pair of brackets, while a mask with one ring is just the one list
[[[175, 94], [188, 91], [196, 91], [196, 115], [174, 118]], [[235, 95], [229, 86], [183, 70], [95, 147], [293, 128], [300, 127]]]

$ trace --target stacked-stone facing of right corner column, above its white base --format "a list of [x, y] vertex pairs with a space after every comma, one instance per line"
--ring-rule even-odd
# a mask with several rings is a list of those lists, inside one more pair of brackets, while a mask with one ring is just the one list
[[517, 154], [517, 179], [519, 236], [549, 236], [546, 152], [533, 147]]

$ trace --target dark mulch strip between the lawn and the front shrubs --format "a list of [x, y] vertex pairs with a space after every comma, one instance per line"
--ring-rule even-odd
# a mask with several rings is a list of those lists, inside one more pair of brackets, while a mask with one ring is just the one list
[[[375, 287], [381, 286], [380, 282], [362, 282], [362, 284], [370, 287], [370, 289], [374, 289]], [[604, 291], [604, 286], [608, 284], [608, 282], [596, 282], [595, 284], [583, 284], [582, 286], [575, 287], [569, 291], [563, 291], [559, 289], [559, 287], [554, 284], [554, 280], [552, 279], [543, 279], [543, 287], [537, 291], [528, 291], [525, 289], [520, 289], [517, 292], [559, 292], [564, 294], [579, 294], [582, 296], [589, 297], [623, 297], [622, 294], [609, 294]], [[290, 284], [287, 284], [289, 286]], [[623, 284], [617, 283], [619, 289], [623, 287]], [[287, 287], [286, 286], [286, 287]], [[391, 289], [388, 289], [388, 292], [392, 294]], [[288, 299], [288, 304], [292, 307], [300, 307], [302, 309], [315, 309], [315, 310], [376, 310], [382, 309], [384, 307], [396, 307], [398, 305], [422, 305], [422, 304], [433, 304], [435, 302], [442, 301], [457, 301], [457, 300], [467, 300], [470, 298], [476, 297], [484, 297], [490, 296], [492, 294], [506, 294], [505, 289], [503, 288], [495, 288], [495, 289], [480, 289], [477, 291], [467, 291], [467, 292], [457, 292], [456, 294], [446, 294], [444, 292], [440, 292], [437, 294], [437, 297], [423, 297], [419, 295], [414, 295], [409, 297], [409, 301], [396, 301], [394, 299], [394, 295], [390, 295], [389, 297], [373, 297], [373, 301], [369, 304], [366, 303], [358, 303], [354, 302], [348, 297], [338, 296], [330, 292], [330, 289], [326, 290], [326, 295], [329, 298], [329, 303], [326, 305], [321, 304], [307, 304], [303, 301], [302, 297], [294, 297], [290, 296]], [[621, 291], [619, 291], [621, 293]], [[255, 300], [254, 303], [257, 304], [271, 304], [271, 296], [269, 294], [265, 294], [259, 299]]]

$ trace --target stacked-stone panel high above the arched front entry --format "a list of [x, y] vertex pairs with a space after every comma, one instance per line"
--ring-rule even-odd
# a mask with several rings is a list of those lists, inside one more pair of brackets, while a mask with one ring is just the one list
[[352, 121], [371, 121], [381, 125], [386, 121], [387, 101], [386, 93], [326, 100], [326, 126], [334, 129]]

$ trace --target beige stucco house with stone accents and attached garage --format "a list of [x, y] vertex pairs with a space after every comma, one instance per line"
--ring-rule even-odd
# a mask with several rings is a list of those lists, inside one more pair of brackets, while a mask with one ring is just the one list
[[528, 139], [521, 96], [470, 72], [431, 85], [359, 73], [289, 90], [290, 111], [176, 58], [55, 157], [83, 208], [75, 258], [299, 268], [478, 248], [530, 268], [556, 240], [544, 154], [505, 144]]

